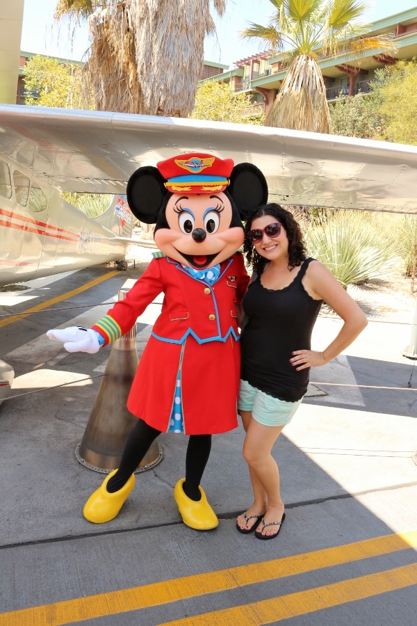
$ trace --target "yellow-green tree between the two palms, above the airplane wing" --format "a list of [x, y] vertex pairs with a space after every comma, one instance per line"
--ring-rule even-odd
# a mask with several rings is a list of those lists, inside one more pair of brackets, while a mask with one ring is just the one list
[[190, 118], [262, 125], [263, 111], [251, 113], [251, 107], [250, 96], [235, 93], [224, 81], [204, 81], [195, 94], [195, 108]]

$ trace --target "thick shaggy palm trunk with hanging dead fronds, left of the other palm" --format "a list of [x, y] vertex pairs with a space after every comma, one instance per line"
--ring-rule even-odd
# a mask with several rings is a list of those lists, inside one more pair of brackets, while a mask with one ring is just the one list
[[[187, 117], [202, 75], [210, 0], [58, 0], [56, 19], [87, 21], [86, 90], [95, 109]], [[226, 0], [213, 0], [222, 16]]]

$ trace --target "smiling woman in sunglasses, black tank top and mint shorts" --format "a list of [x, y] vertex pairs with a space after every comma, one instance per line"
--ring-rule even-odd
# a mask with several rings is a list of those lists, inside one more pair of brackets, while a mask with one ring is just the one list
[[[306, 258], [300, 226], [279, 204], [256, 209], [245, 227], [246, 258], [254, 268], [243, 299], [238, 412], [246, 431], [254, 502], [239, 515], [241, 533], [276, 537], [285, 519], [279, 470], [271, 450], [291, 421], [309, 383], [309, 368], [340, 354], [368, 323], [357, 303], [320, 262]], [[337, 337], [311, 350], [311, 332], [322, 303], [343, 319]]]

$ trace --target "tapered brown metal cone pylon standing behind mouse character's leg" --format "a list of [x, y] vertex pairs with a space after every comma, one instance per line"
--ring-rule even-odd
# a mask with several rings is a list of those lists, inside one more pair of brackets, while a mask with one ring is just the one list
[[[127, 289], [120, 289], [123, 300]], [[75, 456], [81, 465], [108, 474], [119, 467], [126, 439], [138, 418], [126, 407], [127, 396], [138, 367], [136, 325], [113, 342], [106, 371]], [[145, 472], [162, 460], [154, 440], [136, 472]]]

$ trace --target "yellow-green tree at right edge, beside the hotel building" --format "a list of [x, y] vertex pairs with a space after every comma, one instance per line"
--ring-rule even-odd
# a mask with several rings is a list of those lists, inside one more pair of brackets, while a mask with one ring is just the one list
[[370, 99], [382, 118], [382, 137], [417, 145], [417, 59], [375, 72]]

